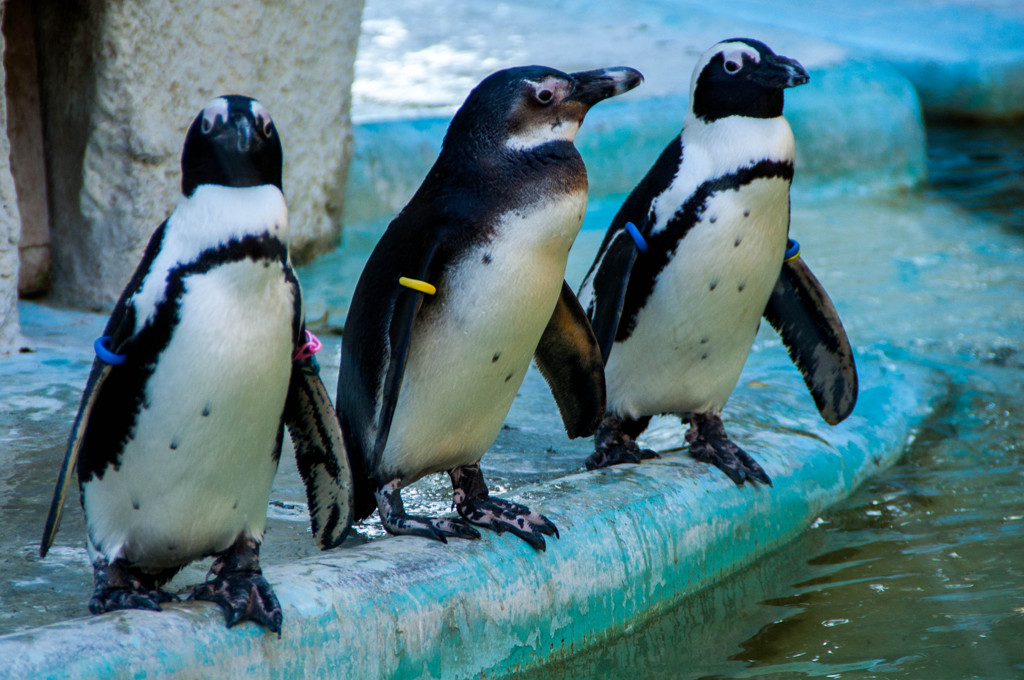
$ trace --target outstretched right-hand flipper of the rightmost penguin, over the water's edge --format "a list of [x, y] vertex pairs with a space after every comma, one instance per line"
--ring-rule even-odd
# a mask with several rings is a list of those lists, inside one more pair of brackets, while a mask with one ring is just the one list
[[857, 367], [843, 323], [803, 259], [784, 262], [764, 312], [800, 369], [821, 417], [837, 425], [857, 402]]

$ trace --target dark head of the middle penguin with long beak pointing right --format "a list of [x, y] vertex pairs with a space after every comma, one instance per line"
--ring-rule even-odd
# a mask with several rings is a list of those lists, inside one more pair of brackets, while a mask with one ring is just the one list
[[627, 67], [566, 74], [548, 67], [519, 67], [487, 76], [452, 120], [445, 148], [535, 148], [572, 142], [595, 103], [633, 89], [643, 80]]

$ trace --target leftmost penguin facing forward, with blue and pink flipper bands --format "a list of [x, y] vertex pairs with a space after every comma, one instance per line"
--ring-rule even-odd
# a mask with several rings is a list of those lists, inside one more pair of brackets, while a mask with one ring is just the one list
[[114, 307], [69, 439], [40, 556], [77, 469], [95, 590], [89, 610], [155, 609], [182, 566], [215, 556], [191, 598], [281, 634], [259, 564], [284, 428], [313, 536], [351, 525], [351, 473], [288, 251], [282, 146], [259, 101], [196, 117], [181, 196]]

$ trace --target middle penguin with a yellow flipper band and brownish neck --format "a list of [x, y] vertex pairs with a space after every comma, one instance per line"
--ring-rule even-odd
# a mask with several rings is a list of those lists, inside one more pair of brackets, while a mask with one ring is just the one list
[[[357, 519], [378, 510], [391, 534], [444, 543], [478, 539], [470, 524], [538, 550], [557, 537], [542, 514], [489, 495], [480, 459], [531, 357], [570, 437], [592, 434], [604, 412], [600, 350], [564, 282], [587, 207], [573, 139], [592, 105], [641, 80], [625, 67], [513, 68], [485, 78], [456, 113], [345, 322], [336, 405]], [[407, 514], [401, 490], [443, 471], [462, 519]]]

